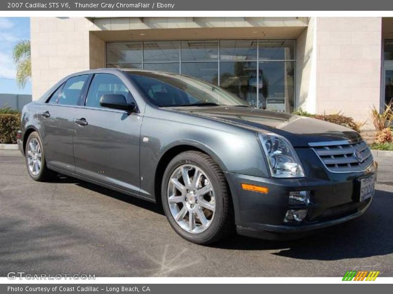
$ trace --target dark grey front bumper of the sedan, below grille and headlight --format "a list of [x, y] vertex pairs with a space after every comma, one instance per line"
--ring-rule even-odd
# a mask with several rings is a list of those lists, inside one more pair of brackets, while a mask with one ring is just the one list
[[[367, 175], [376, 174], [369, 172]], [[240, 235], [263, 239], [297, 239], [315, 230], [360, 217], [370, 206], [372, 197], [356, 201], [356, 178], [342, 181], [319, 179], [272, 179], [225, 173], [232, 193], [235, 222]], [[243, 190], [242, 183], [263, 186], [268, 194]], [[289, 207], [289, 192], [310, 191], [310, 205], [304, 221], [283, 222]]]

